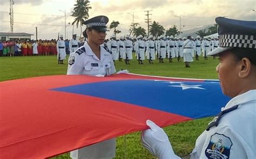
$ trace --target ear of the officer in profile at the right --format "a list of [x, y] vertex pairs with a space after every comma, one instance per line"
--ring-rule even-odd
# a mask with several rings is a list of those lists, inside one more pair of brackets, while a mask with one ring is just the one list
[[238, 76], [240, 78], [248, 77], [251, 73], [251, 67], [251, 61], [248, 58], [242, 58], [240, 61]]

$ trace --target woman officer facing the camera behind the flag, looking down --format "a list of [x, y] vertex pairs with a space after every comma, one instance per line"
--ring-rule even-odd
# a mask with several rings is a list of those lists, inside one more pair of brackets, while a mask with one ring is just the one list
[[[87, 41], [70, 54], [67, 74], [103, 76], [116, 72], [111, 53], [101, 46], [106, 37], [107, 22], [109, 19], [106, 16], [97, 16], [84, 22], [86, 30], [83, 35]], [[115, 155], [116, 138], [71, 151], [70, 154], [73, 159], [113, 158]]]

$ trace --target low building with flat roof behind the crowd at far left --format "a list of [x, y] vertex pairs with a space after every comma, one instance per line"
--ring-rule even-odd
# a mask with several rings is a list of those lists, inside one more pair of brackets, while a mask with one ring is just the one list
[[0, 40], [30, 40], [33, 34], [25, 32], [0, 32]]

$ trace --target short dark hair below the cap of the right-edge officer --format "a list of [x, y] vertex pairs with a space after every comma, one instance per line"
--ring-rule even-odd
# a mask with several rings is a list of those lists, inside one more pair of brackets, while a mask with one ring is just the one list
[[252, 65], [256, 66], [256, 49], [234, 47], [230, 50], [236, 60], [248, 58]]

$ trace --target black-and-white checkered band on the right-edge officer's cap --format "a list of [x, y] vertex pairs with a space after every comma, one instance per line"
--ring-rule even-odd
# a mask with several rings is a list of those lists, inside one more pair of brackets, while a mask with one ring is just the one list
[[256, 49], [256, 36], [243, 34], [222, 34], [219, 37], [219, 46]]

